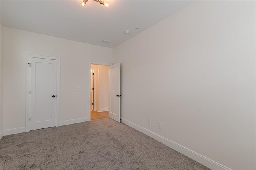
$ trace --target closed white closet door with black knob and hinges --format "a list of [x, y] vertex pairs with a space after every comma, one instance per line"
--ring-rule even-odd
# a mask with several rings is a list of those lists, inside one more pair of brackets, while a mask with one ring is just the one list
[[30, 130], [56, 126], [56, 60], [30, 57]]

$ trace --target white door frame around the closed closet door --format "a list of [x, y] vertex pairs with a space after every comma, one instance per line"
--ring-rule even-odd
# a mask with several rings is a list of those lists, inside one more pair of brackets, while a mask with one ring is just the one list
[[54, 59], [56, 60], [56, 126], [60, 124], [60, 57], [45, 56], [45, 55], [33, 55], [26, 54], [26, 111], [25, 111], [25, 128], [26, 132], [30, 131], [30, 57], [42, 58], [42, 59]]

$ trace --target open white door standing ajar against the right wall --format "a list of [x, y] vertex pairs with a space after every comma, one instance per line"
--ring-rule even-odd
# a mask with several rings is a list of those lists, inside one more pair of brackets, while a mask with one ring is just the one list
[[121, 64], [109, 66], [109, 111], [108, 116], [120, 122], [120, 69]]

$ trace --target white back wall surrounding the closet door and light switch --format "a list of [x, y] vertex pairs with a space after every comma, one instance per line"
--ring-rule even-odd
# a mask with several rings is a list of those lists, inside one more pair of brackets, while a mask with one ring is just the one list
[[60, 56], [60, 124], [88, 120], [89, 61], [112, 63], [112, 49], [8, 27], [3, 49], [4, 130], [25, 127], [26, 54]]

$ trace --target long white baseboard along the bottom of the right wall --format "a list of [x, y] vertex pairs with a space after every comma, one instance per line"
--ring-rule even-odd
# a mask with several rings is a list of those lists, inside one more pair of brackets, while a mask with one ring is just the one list
[[170, 148], [184, 154], [185, 156], [188, 156], [189, 158], [195, 160], [196, 162], [199, 162], [200, 164], [203, 164], [204, 166], [212, 169], [212, 170], [230, 170], [229, 168], [218, 164], [217, 162], [210, 160], [209, 158], [206, 158], [192, 150], [189, 150], [188, 148], [185, 148], [184, 146], [181, 146], [175, 142], [172, 142], [171, 140], [164, 138], [163, 136], [160, 136], [154, 132], [151, 132], [150, 130], [140, 127], [139, 125], [136, 125], [135, 123], [132, 123], [124, 118], [121, 118], [121, 122], [128, 125], [129, 127], [132, 127], [152, 138], [155, 140], [165, 144], [166, 146], [169, 146]]

